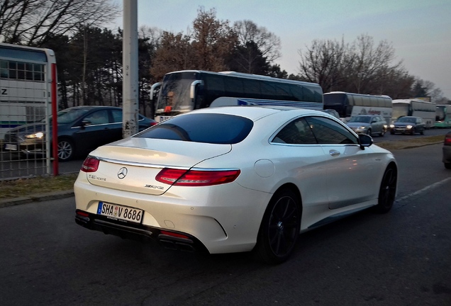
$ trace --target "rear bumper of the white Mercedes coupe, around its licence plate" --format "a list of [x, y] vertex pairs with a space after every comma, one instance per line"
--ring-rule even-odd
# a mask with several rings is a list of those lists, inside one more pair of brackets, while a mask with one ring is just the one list
[[[74, 184], [77, 211], [89, 214], [86, 219], [77, 215], [79, 225], [119, 237], [150, 239], [166, 246], [177, 246], [172, 248], [207, 249], [211, 254], [251, 251], [257, 242], [265, 203], [272, 196], [240, 186], [230, 192], [222, 190], [218, 193], [215, 188], [210, 188], [206, 193], [200, 188], [189, 187], [183, 193], [174, 191], [165, 196], [152, 196], [93, 186], [84, 176], [86, 174], [80, 172]], [[99, 201], [143, 210], [143, 220], [136, 224], [98, 215]], [[161, 236], [162, 231], [181, 233], [191, 242], [174, 242], [170, 237]]]

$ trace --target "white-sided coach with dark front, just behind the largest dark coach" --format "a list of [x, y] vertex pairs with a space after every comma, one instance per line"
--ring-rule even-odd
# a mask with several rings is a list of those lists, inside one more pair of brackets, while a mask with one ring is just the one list
[[338, 112], [343, 122], [356, 115], [382, 115], [386, 125], [391, 123], [391, 98], [332, 91], [324, 94], [324, 108]]

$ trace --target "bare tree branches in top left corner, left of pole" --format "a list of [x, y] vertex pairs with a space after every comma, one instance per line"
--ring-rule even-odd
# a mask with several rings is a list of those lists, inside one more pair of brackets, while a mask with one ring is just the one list
[[69, 35], [82, 26], [100, 26], [120, 13], [111, 0], [4, 0], [0, 40], [41, 46], [52, 35]]

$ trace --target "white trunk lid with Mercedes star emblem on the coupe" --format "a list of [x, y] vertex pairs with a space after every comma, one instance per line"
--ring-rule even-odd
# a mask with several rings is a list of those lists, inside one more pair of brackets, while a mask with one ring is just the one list
[[87, 173], [87, 179], [96, 186], [158, 196], [170, 188], [155, 179], [162, 169], [188, 170], [230, 149], [230, 145], [131, 137], [91, 152], [101, 162], [96, 172]]

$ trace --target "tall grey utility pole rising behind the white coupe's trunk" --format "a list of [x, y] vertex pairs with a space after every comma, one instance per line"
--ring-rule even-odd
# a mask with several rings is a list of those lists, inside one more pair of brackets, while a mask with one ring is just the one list
[[122, 137], [138, 132], [138, 0], [123, 0]]

